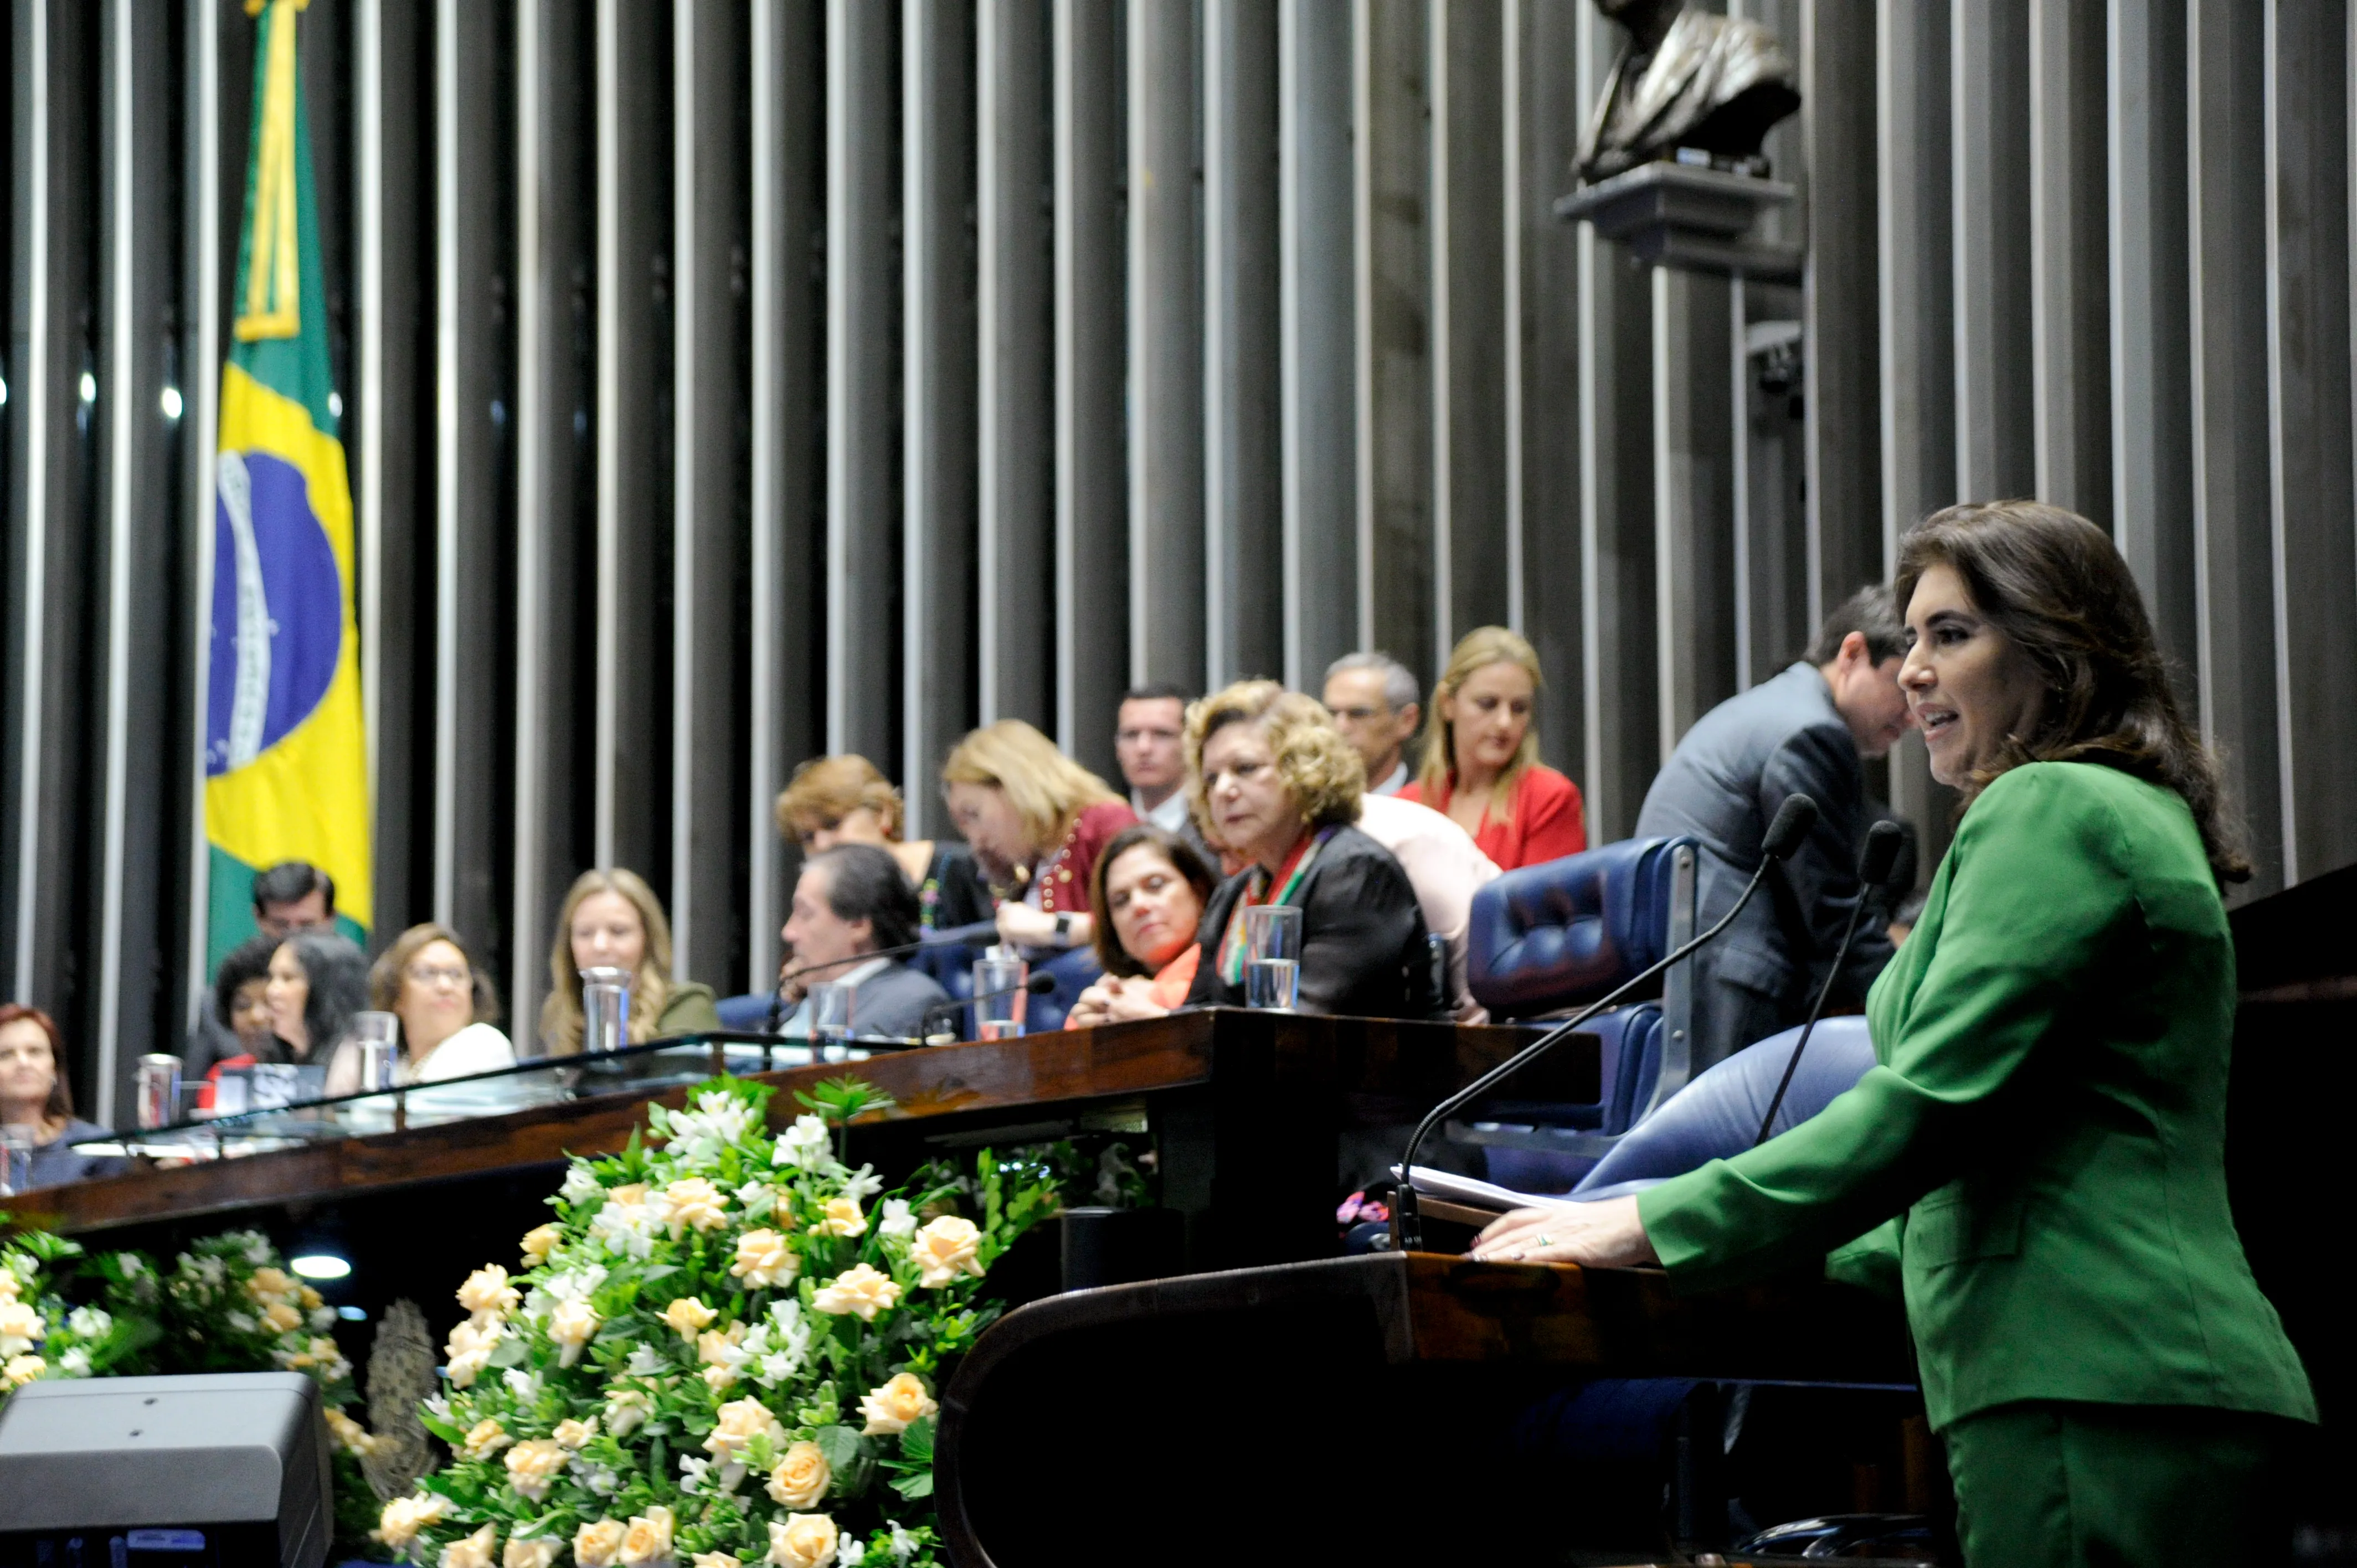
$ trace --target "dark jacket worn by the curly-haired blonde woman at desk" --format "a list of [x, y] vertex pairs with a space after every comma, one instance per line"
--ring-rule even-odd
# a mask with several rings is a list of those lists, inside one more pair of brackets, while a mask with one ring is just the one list
[[[1202, 913], [1202, 964], [1190, 1007], [1242, 1007], [1244, 988], [1219, 974], [1219, 941], [1228, 913], [1244, 896], [1237, 872], [1211, 891]], [[1301, 1012], [1353, 1019], [1445, 1019], [1433, 990], [1433, 957], [1424, 941], [1424, 908], [1391, 851], [1358, 828], [1341, 828], [1292, 903], [1301, 905]]]

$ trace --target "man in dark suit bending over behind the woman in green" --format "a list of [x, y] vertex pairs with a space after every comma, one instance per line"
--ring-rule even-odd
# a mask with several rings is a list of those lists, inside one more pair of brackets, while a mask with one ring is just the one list
[[[1824, 981], [1857, 887], [1857, 846], [1874, 811], [1864, 757], [1907, 733], [1897, 672], [1904, 632], [1888, 587], [1860, 589], [1782, 674], [1702, 714], [1645, 792], [1636, 835], [1702, 842], [1695, 929], [1735, 903], [1787, 795], [1817, 802], [1817, 828], [1725, 936], [1692, 957], [1695, 1070], [1801, 1023]], [[1857, 931], [1834, 1004], [1857, 1007], [1890, 962], [1890, 938]]]

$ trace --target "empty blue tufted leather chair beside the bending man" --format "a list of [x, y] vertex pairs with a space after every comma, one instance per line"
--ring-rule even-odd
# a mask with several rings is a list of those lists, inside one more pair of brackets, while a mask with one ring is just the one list
[[[1600, 844], [1506, 872], [1473, 896], [1466, 983], [1492, 1019], [1563, 1014], [1659, 962], [1692, 929], [1692, 839]], [[1492, 1181], [1567, 1191], [1629, 1127], [1685, 1087], [1690, 1021], [1685, 964], [1678, 964], [1659, 997], [1589, 1023], [1603, 1040], [1600, 1099], [1492, 1099], [1483, 1120], [1450, 1122], [1447, 1137], [1480, 1146]]]

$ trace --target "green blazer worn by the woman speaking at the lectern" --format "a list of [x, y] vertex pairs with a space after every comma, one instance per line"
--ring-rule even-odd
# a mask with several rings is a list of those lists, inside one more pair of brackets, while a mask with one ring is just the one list
[[1904, 1214], [1933, 1427], [2025, 1398], [2317, 1419], [2227, 1210], [2234, 948], [2176, 792], [2001, 773], [1867, 1019], [1881, 1066], [1855, 1089], [1638, 1198], [1676, 1283], [1805, 1266]]

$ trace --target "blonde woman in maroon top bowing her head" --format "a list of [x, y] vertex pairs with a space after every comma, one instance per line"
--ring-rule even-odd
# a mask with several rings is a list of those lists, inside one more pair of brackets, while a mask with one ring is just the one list
[[1138, 821], [1103, 778], [1023, 719], [971, 731], [940, 764], [950, 821], [1006, 894], [999, 941], [1087, 948], [1089, 877], [1105, 842]]

